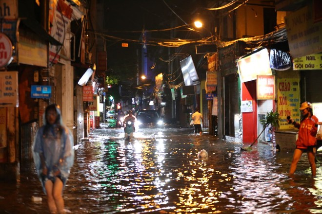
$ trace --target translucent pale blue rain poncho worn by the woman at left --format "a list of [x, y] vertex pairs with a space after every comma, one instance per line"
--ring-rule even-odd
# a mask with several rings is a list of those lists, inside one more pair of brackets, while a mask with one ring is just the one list
[[60, 179], [65, 187], [67, 179], [70, 174], [70, 168], [74, 163], [74, 150], [73, 150], [73, 135], [70, 130], [62, 124], [61, 113], [59, 108], [56, 107], [57, 117], [59, 120], [54, 125], [49, 125], [46, 122], [46, 117], [43, 117], [43, 126], [38, 129], [35, 142], [33, 144], [33, 155], [35, 167], [40, 179], [42, 189], [46, 194], [44, 188], [44, 181], [42, 178], [42, 165], [40, 154], [42, 153], [48, 169], [47, 176], [54, 177], [57, 169], [60, 170]]

